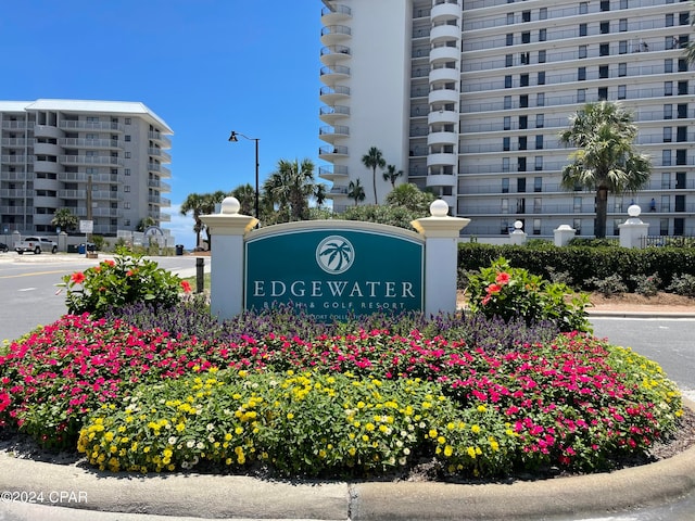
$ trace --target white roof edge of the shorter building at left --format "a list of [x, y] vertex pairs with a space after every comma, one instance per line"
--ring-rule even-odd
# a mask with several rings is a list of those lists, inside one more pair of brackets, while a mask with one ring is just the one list
[[111, 113], [130, 114], [149, 117], [154, 124], [161, 126], [162, 134], [174, 134], [174, 130], [139, 101], [102, 101], [102, 100], [54, 100], [39, 99], [36, 101], [0, 101], [1, 112], [23, 112], [23, 111], [65, 111], [65, 112], [89, 112], [89, 113]]

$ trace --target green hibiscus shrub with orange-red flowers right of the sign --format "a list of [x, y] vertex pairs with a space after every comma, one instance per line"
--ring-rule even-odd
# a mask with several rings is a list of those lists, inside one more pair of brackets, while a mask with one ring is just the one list
[[505, 321], [522, 317], [527, 323], [549, 320], [560, 331], [591, 330], [585, 312], [587, 295], [569, 297], [572, 291], [567, 285], [513, 268], [504, 257], [470, 275], [467, 292], [470, 310], [485, 317]]

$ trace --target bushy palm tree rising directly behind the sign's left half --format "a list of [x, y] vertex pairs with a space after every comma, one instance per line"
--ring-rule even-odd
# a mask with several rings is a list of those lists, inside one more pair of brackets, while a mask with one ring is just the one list
[[266, 179], [263, 190], [266, 198], [277, 205], [285, 220], [304, 220], [308, 218], [308, 200], [320, 195], [325, 199], [325, 187], [317, 189], [314, 180], [314, 163], [305, 158], [278, 162], [277, 170]]

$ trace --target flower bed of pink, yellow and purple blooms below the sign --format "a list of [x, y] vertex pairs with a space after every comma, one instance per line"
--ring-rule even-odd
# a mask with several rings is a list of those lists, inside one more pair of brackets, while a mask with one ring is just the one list
[[[0, 424], [113, 471], [374, 475], [429, 458], [497, 476], [609, 469], [682, 414], [658, 365], [584, 333], [548, 340], [549, 329], [471, 317], [331, 327], [278, 310], [206, 336], [185, 332], [195, 313], [204, 321], [195, 309], [141, 310], [148, 327], [127, 310], [66, 316], [11, 343]], [[495, 340], [506, 328], [539, 340]]]

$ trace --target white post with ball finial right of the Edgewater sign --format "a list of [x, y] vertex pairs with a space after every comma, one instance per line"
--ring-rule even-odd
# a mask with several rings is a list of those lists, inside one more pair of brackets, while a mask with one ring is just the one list
[[431, 217], [410, 223], [425, 237], [425, 313], [456, 312], [458, 233], [470, 219], [450, 217], [448, 205], [437, 200]]

